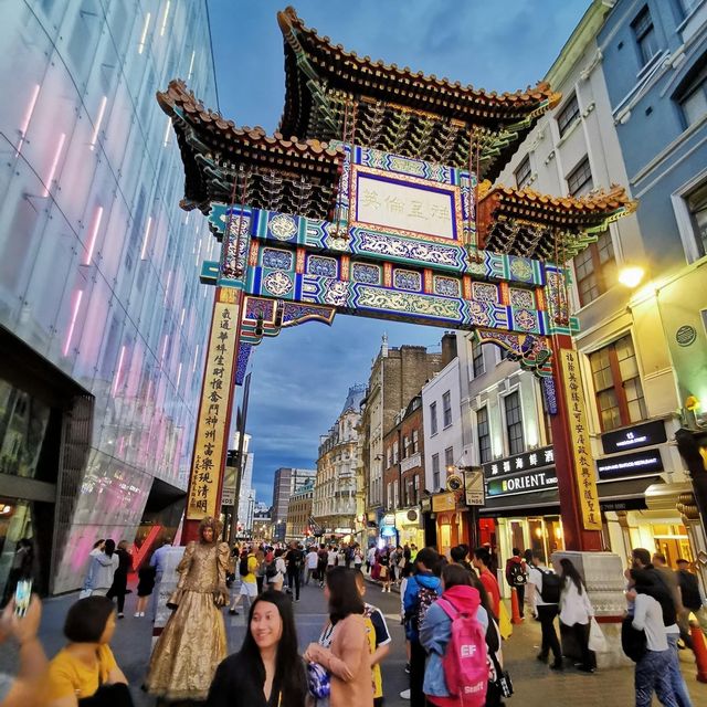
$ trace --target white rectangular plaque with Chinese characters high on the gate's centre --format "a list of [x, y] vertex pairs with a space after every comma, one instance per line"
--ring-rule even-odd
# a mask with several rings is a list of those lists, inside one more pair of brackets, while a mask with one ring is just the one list
[[454, 239], [455, 192], [358, 172], [356, 221]]

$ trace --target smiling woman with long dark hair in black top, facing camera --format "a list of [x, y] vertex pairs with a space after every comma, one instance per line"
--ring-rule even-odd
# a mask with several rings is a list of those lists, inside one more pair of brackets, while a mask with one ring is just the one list
[[305, 707], [306, 698], [292, 601], [267, 590], [251, 605], [241, 651], [219, 665], [207, 707]]

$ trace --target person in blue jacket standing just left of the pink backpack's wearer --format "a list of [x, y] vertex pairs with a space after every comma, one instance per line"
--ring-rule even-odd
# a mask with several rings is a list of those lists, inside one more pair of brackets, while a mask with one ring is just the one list
[[440, 556], [432, 548], [423, 548], [415, 557], [415, 573], [408, 580], [403, 609], [405, 612], [405, 637], [410, 641], [410, 689], [400, 696], [410, 699], [411, 707], [424, 707], [425, 650], [420, 644], [420, 625], [432, 603], [442, 595], [442, 582], [434, 569]]

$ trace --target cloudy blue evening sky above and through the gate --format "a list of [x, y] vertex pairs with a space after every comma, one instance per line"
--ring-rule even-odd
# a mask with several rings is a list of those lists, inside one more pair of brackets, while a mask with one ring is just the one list
[[[239, 126], [276, 129], [284, 105], [286, 0], [208, 0], [219, 108]], [[298, 15], [359, 56], [487, 91], [541, 81], [590, 0], [299, 0]], [[217, 108], [217, 106], [209, 106]], [[443, 329], [338, 316], [306, 323], [253, 349], [246, 432], [257, 500], [272, 503], [281, 466], [316, 468], [319, 435], [349, 386], [366, 383], [383, 334], [389, 346], [440, 350]], [[241, 389], [236, 390], [241, 402]], [[235, 418], [235, 415], [234, 415]]]

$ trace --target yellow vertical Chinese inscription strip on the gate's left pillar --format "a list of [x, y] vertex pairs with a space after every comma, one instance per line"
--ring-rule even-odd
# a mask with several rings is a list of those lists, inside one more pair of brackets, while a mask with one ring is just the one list
[[239, 295], [221, 289], [213, 308], [207, 368], [201, 391], [197, 442], [191, 463], [188, 520], [218, 517], [219, 476], [225, 453], [228, 411], [233, 394], [235, 337], [240, 317]]

